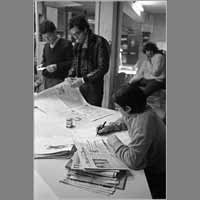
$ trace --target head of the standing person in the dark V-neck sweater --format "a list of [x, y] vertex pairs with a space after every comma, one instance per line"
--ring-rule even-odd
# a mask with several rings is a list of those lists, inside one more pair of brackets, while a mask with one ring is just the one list
[[42, 37], [50, 44], [56, 40], [56, 26], [52, 21], [44, 20], [39, 27]]

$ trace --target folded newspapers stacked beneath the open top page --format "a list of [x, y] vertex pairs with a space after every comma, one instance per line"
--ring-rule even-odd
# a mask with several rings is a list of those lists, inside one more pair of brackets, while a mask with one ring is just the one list
[[127, 175], [122, 170], [88, 171], [81, 168], [78, 152], [66, 164], [67, 174], [61, 183], [72, 185], [90, 192], [112, 195], [116, 189], [125, 188]]

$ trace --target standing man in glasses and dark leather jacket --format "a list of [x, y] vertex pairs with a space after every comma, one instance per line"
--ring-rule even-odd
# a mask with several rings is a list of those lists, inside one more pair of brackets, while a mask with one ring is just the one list
[[101, 106], [104, 75], [109, 68], [109, 44], [107, 40], [92, 33], [84, 16], [70, 20], [70, 32], [75, 39], [74, 60], [67, 79], [71, 87], [79, 88], [86, 101]]

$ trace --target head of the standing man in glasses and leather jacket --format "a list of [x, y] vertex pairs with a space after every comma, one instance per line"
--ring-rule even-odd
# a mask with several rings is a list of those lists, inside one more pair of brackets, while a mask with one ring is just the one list
[[70, 20], [69, 29], [76, 42], [83, 43], [90, 26], [85, 17], [83, 15], [79, 15]]

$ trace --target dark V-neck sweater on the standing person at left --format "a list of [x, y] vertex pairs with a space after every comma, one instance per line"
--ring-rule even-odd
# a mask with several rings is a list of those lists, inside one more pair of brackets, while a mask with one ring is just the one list
[[73, 59], [73, 47], [70, 41], [60, 38], [54, 48], [47, 43], [43, 49], [43, 67], [51, 64], [57, 64], [55, 72], [43, 70], [42, 74], [46, 78], [64, 80], [68, 75], [68, 70], [71, 68]]

